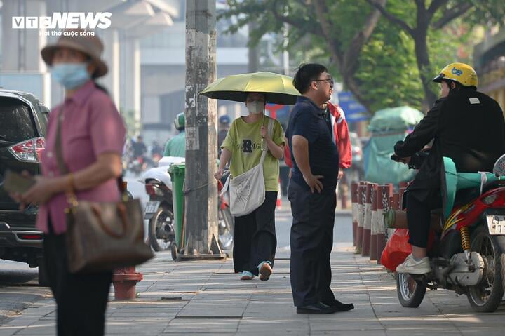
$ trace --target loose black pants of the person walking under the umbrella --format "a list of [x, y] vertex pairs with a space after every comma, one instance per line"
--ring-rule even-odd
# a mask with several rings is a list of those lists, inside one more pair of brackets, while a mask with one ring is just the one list
[[257, 275], [260, 262], [269, 261], [274, 267], [277, 237], [275, 207], [277, 192], [267, 191], [260, 208], [249, 215], [235, 217], [234, 268], [235, 273], [250, 271]]

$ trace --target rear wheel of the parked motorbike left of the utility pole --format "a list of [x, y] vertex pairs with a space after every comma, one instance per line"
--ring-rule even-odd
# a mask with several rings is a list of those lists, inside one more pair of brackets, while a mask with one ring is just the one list
[[166, 206], [161, 206], [149, 220], [149, 243], [156, 252], [170, 249], [175, 239], [173, 220], [172, 210]]

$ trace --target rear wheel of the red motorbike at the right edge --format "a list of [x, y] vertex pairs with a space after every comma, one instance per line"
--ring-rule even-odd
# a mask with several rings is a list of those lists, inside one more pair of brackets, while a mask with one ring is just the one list
[[483, 257], [484, 275], [478, 285], [467, 288], [466, 296], [474, 311], [492, 313], [504, 295], [505, 255], [485, 227], [473, 232], [471, 250]]

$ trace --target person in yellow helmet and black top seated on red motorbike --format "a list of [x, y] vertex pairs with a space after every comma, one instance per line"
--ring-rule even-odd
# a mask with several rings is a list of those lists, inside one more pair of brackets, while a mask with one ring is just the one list
[[[431, 272], [426, 246], [430, 212], [442, 207], [443, 157], [451, 158], [460, 173], [476, 173], [492, 171], [494, 162], [505, 153], [503, 112], [495, 100], [477, 91], [475, 70], [464, 63], [451, 63], [433, 81], [440, 83], [441, 98], [414, 131], [394, 146], [392, 159], [420, 166], [405, 194], [412, 253], [398, 265], [397, 273]], [[417, 154], [431, 140], [429, 154]]]

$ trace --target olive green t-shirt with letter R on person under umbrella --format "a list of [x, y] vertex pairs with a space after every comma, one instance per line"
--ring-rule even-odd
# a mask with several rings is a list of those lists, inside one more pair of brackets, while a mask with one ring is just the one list
[[[269, 116], [264, 116], [264, 121], [261, 118], [255, 123], [246, 123], [242, 118], [237, 118], [231, 123], [228, 135], [221, 145], [221, 148], [226, 148], [231, 152], [231, 177], [241, 175], [260, 163], [262, 146], [267, 148], [267, 142], [262, 142], [260, 130], [263, 122], [268, 130], [269, 120]], [[284, 145], [281, 123], [275, 119], [271, 119], [271, 121], [274, 123], [271, 139], [276, 145]], [[278, 166], [278, 159], [268, 152], [263, 163], [265, 191], [278, 191]]]

